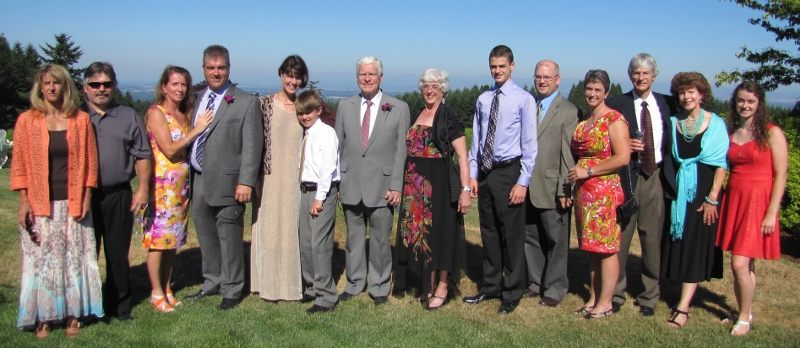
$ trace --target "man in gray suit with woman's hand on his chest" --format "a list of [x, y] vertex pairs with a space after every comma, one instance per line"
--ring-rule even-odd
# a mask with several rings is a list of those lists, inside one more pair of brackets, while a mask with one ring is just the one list
[[228, 50], [203, 52], [208, 88], [195, 92], [196, 113], [214, 120], [192, 146], [192, 215], [203, 254], [200, 291], [186, 299], [221, 294], [219, 309], [235, 307], [244, 288], [245, 203], [250, 202], [264, 144], [258, 99], [232, 85]]

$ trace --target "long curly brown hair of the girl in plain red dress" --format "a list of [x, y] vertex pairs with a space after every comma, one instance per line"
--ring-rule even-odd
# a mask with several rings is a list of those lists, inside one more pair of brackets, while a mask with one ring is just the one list
[[772, 119], [770, 119], [769, 113], [767, 113], [767, 101], [765, 99], [766, 93], [764, 92], [764, 87], [761, 87], [758, 82], [745, 81], [736, 86], [736, 89], [733, 90], [733, 95], [728, 105], [728, 131], [733, 134], [736, 128], [739, 128], [741, 125], [741, 117], [736, 109], [736, 95], [739, 94], [739, 91], [753, 93], [756, 99], [758, 99], [758, 108], [756, 108], [756, 112], [753, 114], [753, 122], [750, 124], [750, 133], [753, 136], [753, 140], [756, 142], [756, 147], [760, 150], [766, 150], [770, 145], [769, 128], [767, 125], [772, 123]]

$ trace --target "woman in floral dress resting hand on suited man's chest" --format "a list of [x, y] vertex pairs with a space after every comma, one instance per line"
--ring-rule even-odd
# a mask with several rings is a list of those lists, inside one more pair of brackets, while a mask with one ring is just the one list
[[172, 312], [181, 303], [172, 295], [170, 279], [175, 253], [186, 244], [189, 221], [189, 160], [186, 149], [211, 123], [206, 111], [189, 131], [194, 98], [189, 93], [189, 71], [168, 66], [161, 74], [153, 106], [145, 116], [147, 137], [153, 149], [150, 200], [142, 219], [150, 276], [150, 303], [161, 312]]

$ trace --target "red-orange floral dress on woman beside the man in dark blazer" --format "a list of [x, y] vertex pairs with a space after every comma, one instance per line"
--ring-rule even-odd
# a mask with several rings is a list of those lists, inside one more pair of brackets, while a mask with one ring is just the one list
[[[611, 111], [587, 124], [578, 123], [572, 138], [572, 152], [579, 157], [577, 167], [593, 167], [611, 157], [608, 129], [625, 118]], [[617, 222], [617, 206], [625, 202], [619, 174], [593, 176], [575, 184], [575, 227], [582, 250], [615, 253], [619, 250], [622, 227]]]

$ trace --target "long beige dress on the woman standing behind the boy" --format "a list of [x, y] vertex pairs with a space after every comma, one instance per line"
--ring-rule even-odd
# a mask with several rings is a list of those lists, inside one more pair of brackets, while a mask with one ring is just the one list
[[[272, 103], [272, 173], [264, 175], [261, 206], [253, 223], [250, 291], [269, 301], [303, 297], [300, 269], [300, 150], [303, 126], [294, 111]], [[255, 213], [255, 212], [254, 212]]]

